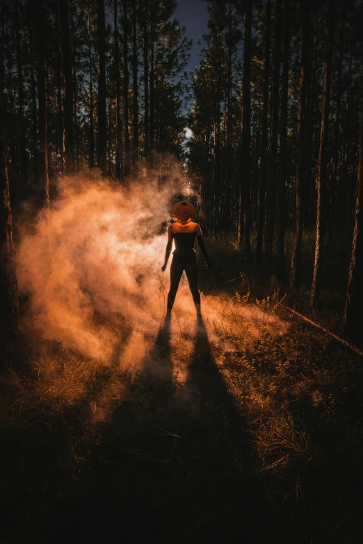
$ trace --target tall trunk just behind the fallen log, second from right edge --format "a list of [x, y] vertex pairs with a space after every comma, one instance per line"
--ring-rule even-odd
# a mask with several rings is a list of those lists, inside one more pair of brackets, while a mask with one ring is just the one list
[[312, 281], [312, 306], [318, 303], [321, 291], [321, 258], [323, 253], [324, 219], [326, 208], [326, 193], [328, 188], [328, 137], [329, 137], [329, 103], [330, 103], [330, 72], [332, 68], [332, 51], [334, 44], [334, 0], [328, 4], [328, 52], [325, 59], [323, 114], [321, 116], [320, 149], [318, 158], [318, 173], [316, 176], [316, 240], [314, 272]]

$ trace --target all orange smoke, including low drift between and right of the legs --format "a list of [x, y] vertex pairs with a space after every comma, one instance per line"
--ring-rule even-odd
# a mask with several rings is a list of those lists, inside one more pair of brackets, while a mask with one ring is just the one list
[[[50, 211], [19, 225], [24, 327], [88, 358], [138, 370], [165, 318], [170, 261], [165, 274], [161, 265], [170, 211], [177, 195], [191, 194], [191, 183], [178, 167], [143, 172], [127, 188], [86, 172], [59, 179], [57, 194]], [[284, 331], [275, 316], [222, 296], [202, 294], [202, 315], [209, 340], [226, 349], [233, 334]], [[175, 365], [185, 363], [181, 348], [197, 327], [183, 277], [165, 333]]]

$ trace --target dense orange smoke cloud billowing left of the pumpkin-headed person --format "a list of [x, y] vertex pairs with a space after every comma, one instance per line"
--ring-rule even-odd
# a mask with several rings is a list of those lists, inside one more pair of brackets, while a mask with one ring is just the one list
[[19, 229], [19, 292], [29, 297], [25, 326], [104, 361], [117, 338], [107, 324], [96, 327], [95, 314], [157, 326], [164, 311], [157, 278], [165, 222], [173, 194], [185, 194], [187, 186], [176, 167], [162, 181], [147, 172], [127, 190], [89, 172], [59, 179], [50, 211]]

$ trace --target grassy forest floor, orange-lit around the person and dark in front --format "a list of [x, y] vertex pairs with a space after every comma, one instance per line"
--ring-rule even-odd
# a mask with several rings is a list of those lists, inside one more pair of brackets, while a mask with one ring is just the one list
[[341, 335], [344, 288], [312, 311], [227, 246], [201, 277], [218, 323], [173, 313], [137, 372], [10, 346], [1, 543], [362, 542], [362, 357], [288, 309]]

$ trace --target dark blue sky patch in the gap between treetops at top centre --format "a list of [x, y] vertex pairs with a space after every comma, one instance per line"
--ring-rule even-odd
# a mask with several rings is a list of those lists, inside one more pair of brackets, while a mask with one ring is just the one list
[[207, 33], [207, 2], [202, 0], [178, 0], [177, 10], [174, 15], [181, 26], [186, 26], [186, 35], [193, 40], [191, 48], [191, 60], [186, 71], [193, 70], [199, 64], [200, 57], [195, 53], [195, 45], [198, 38]]

